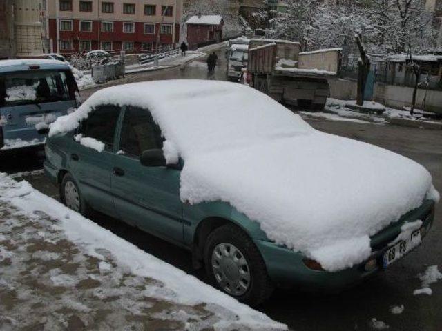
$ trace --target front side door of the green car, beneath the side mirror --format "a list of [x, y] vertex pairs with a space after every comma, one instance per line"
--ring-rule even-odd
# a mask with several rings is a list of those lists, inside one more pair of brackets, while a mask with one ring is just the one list
[[180, 171], [140, 163], [142, 152], [162, 148], [160, 128], [148, 110], [126, 107], [118, 136], [111, 177], [115, 210], [128, 223], [181, 243]]

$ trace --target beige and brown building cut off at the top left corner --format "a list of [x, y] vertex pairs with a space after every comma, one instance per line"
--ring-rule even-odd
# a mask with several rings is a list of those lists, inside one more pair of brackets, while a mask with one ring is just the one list
[[0, 59], [36, 57], [41, 43], [41, 0], [0, 1]]

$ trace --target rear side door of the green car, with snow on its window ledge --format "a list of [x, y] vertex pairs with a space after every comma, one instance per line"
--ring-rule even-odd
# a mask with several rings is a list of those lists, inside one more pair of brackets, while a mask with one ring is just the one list
[[[92, 208], [106, 214], [115, 214], [111, 193], [112, 155], [115, 131], [121, 108], [113, 105], [96, 107], [85, 119], [76, 134], [70, 151], [70, 170], [81, 194]], [[81, 136], [79, 136], [81, 134]], [[81, 144], [79, 137], [88, 137], [104, 143], [99, 152]]]

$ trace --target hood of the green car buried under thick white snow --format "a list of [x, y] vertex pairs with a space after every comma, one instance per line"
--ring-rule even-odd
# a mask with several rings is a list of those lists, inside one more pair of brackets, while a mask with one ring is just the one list
[[181, 197], [224, 201], [267, 237], [336, 271], [371, 254], [369, 236], [434, 190], [418, 163], [313, 131], [185, 160]]

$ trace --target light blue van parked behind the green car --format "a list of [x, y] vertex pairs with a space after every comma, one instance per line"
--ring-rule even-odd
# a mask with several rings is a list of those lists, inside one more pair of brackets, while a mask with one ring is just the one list
[[68, 63], [50, 59], [0, 61], [0, 154], [41, 148], [49, 124], [79, 103]]

